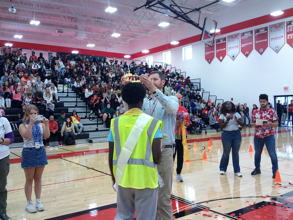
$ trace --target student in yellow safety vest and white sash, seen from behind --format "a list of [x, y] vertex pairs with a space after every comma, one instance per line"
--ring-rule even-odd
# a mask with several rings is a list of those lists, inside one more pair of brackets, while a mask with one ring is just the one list
[[128, 83], [122, 98], [128, 111], [111, 120], [109, 167], [117, 191], [116, 219], [154, 220], [158, 199], [158, 174], [163, 122], [144, 114], [145, 87]]

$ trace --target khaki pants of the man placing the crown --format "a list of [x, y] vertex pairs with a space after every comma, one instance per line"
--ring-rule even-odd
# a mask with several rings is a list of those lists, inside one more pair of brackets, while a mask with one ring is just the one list
[[158, 207], [156, 220], [172, 220], [173, 209], [170, 200], [173, 179], [173, 149], [164, 148], [162, 151], [161, 163], [158, 165], [158, 172], [164, 181], [164, 186], [158, 191]]

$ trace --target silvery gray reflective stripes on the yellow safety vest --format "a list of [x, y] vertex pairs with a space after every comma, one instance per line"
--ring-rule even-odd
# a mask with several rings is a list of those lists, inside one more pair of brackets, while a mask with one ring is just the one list
[[[118, 127], [118, 120], [119, 117], [114, 120], [114, 133], [115, 133], [115, 150], [116, 150], [116, 160], [113, 160], [113, 166], [117, 165], [118, 158], [121, 153], [121, 144], [120, 144], [120, 138], [119, 138], [119, 127]], [[153, 161], [150, 161], [151, 158], [151, 136], [153, 134], [153, 131], [156, 127], [156, 124], [159, 120], [153, 118], [151, 121], [151, 124], [149, 125], [149, 129], [147, 130], [147, 150], [145, 154], [145, 159], [136, 159], [136, 158], [129, 158], [127, 164], [134, 164], [134, 165], [145, 165], [151, 168], [155, 167], [155, 163]]]

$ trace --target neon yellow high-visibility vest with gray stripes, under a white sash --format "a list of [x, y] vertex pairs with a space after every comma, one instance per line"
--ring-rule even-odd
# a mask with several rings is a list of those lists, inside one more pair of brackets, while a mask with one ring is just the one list
[[[117, 161], [121, 150], [140, 114], [144, 114], [140, 109], [131, 109], [111, 120], [111, 129], [114, 137], [114, 176], [116, 175]], [[125, 166], [119, 182], [120, 186], [135, 189], [154, 189], [159, 186], [157, 170], [151, 150], [154, 135], [159, 127], [163, 128], [163, 122], [155, 118], [149, 120], [145, 126]]]

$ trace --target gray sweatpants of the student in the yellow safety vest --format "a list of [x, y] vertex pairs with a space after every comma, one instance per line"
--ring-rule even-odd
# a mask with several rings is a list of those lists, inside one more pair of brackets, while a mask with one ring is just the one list
[[118, 186], [116, 220], [154, 220], [156, 217], [158, 188], [134, 189]]

